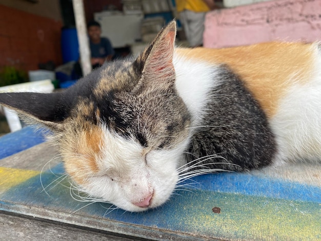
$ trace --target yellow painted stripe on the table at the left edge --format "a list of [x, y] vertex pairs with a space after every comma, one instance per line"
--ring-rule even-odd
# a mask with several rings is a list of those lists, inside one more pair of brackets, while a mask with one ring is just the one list
[[34, 170], [0, 167], [0, 193], [39, 174], [39, 171]]

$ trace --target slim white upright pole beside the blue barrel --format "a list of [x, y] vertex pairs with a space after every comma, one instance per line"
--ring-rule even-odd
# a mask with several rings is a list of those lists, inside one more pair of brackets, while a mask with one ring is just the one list
[[91, 72], [91, 64], [84, 3], [83, 0], [72, 0], [72, 5], [76, 21], [81, 66], [83, 69], [83, 75], [85, 76]]

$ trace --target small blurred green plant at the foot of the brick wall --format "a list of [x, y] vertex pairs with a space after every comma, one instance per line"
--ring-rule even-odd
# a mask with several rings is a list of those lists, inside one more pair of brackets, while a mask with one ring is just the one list
[[18, 70], [12, 66], [5, 66], [0, 69], [0, 87], [28, 81], [29, 79], [26, 71]]

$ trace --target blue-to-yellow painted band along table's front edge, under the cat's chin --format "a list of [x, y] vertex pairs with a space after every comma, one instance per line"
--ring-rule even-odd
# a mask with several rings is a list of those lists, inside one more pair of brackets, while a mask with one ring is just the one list
[[[211, 177], [219, 177], [219, 174], [204, 176], [207, 177], [202, 183], [204, 190], [179, 190], [178, 195], [173, 195], [162, 207], [131, 213], [113, 210], [110, 204], [77, 202], [70, 195], [68, 180], [61, 176], [62, 166], [51, 171], [0, 194], [3, 207], [12, 203], [28, 204], [48, 210], [64, 210], [79, 215], [79, 218], [113, 220], [129, 226], [220, 239], [317, 240], [321, 233], [319, 202], [206, 190], [207, 185], [211, 186]], [[226, 176], [220, 176], [223, 182], [227, 180]], [[201, 181], [199, 178], [195, 180]], [[266, 186], [270, 184], [267, 182]], [[213, 213], [213, 207], [219, 207], [220, 213]]]

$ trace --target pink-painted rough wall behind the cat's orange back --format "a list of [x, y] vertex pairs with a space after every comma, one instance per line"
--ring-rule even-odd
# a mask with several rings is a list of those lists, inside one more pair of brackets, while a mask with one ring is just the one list
[[275, 40], [321, 40], [321, 0], [277, 0], [207, 13], [204, 47]]

